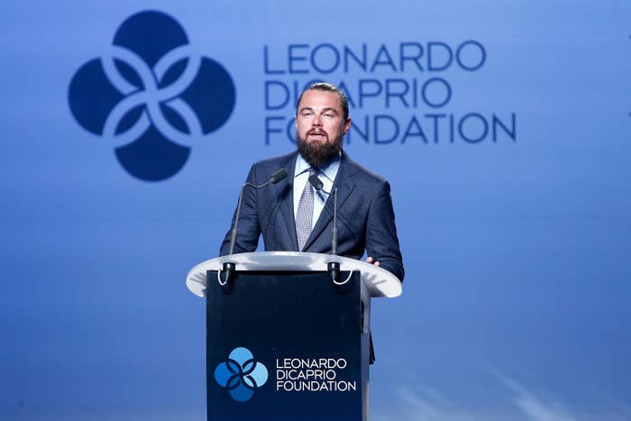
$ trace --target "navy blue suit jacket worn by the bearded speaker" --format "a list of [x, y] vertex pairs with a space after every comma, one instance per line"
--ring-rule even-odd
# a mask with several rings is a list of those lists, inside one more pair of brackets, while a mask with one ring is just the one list
[[[255, 251], [261, 233], [266, 251], [298, 252], [292, 186], [296, 158], [297, 151], [261, 160], [252, 166], [247, 180], [254, 185], [265, 183], [281, 168], [287, 170], [288, 177], [264, 188], [244, 189], [235, 253]], [[361, 259], [366, 250], [369, 256], [380, 261], [383, 269], [403, 280], [403, 261], [388, 181], [343, 153], [333, 188], [338, 189], [337, 253]], [[333, 204], [334, 197], [330, 195], [302, 252], [331, 252]], [[222, 243], [222, 256], [230, 251], [230, 234], [229, 231]]]

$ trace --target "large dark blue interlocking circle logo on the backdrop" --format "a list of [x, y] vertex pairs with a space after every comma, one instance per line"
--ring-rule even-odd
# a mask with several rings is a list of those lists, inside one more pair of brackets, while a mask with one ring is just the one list
[[155, 11], [127, 18], [69, 87], [78, 124], [112, 142], [123, 169], [147, 181], [182, 169], [188, 145], [221, 127], [234, 101], [226, 69], [193, 50], [175, 19]]

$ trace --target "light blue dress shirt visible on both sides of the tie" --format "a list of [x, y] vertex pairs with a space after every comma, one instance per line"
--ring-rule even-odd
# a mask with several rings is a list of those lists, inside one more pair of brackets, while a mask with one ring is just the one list
[[[322, 181], [322, 183], [325, 185], [323, 189], [326, 191], [331, 191], [331, 189], [333, 188], [333, 182], [335, 176], [337, 176], [337, 170], [340, 169], [340, 159], [341, 155], [335, 156], [333, 160], [330, 160], [323, 168], [319, 169], [317, 172], [317, 177], [320, 178], [320, 181]], [[298, 153], [296, 159], [296, 170], [294, 171], [294, 218], [296, 218], [298, 203], [300, 203], [300, 197], [302, 196], [302, 192], [305, 189], [305, 184], [309, 182], [310, 168], [311, 166]], [[317, 222], [317, 218], [319, 218], [320, 214], [322, 214], [322, 209], [325, 208], [327, 197], [329, 197], [329, 195], [327, 195], [324, 191], [315, 191], [314, 216], [311, 221], [312, 229]]]

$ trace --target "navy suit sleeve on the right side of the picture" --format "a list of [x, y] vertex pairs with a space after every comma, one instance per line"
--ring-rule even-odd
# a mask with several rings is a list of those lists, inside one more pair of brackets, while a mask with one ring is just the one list
[[403, 281], [405, 271], [398, 245], [390, 185], [387, 181], [381, 183], [370, 203], [366, 225], [366, 251], [380, 262], [381, 268], [389, 270]]

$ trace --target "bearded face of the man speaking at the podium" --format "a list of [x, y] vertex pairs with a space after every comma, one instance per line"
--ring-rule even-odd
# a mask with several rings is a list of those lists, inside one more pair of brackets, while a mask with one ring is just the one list
[[319, 168], [342, 150], [342, 138], [350, 126], [351, 119], [344, 120], [337, 94], [307, 90], [296, 115], [298, 151], [310, 165]]

